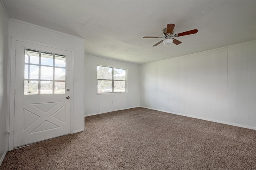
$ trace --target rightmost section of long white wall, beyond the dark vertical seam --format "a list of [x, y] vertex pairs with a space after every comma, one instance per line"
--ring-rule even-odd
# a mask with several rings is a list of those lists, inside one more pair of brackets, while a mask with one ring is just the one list
[[228, 119], [256, 127], [256, 41], [228, 47]]

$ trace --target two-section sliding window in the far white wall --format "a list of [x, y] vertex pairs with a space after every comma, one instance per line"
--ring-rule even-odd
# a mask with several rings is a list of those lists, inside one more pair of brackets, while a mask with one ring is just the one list
[[98, 93], [126, 92], [127, 70], [97, 66]]

